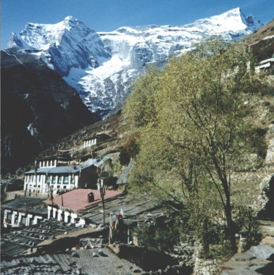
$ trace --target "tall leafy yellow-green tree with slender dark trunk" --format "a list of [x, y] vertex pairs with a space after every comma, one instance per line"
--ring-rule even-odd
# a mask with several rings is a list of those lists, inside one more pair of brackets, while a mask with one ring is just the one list
[[139, 131], [132, 184], [183, 203], [201, 198], [201, 190], [206, 196], [200, 186], [210, 182], [222, 205], [233, 251], [231, 173], [249, 149], [250, 107], [245, 102], [262, 87], [253, 63], [251, 53], [239, 43], [205, 40], [172, 58], [162, 72], [141, 76], [124, 108]]

